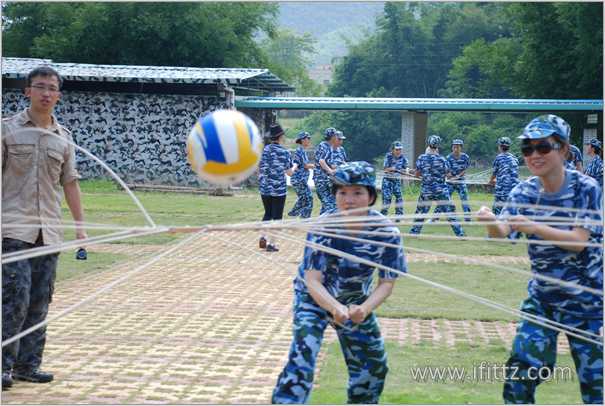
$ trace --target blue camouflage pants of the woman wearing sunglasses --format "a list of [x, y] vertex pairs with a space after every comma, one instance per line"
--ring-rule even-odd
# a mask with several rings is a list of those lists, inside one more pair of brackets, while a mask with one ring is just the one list
[[[593, 334], [599, 334], [602, 319], [581, 319], [544, 306], [535, 298], [526, 299], [521, 310], [563, 323]], [[536, 387], [548, 371], [554, 370], [557, 356], [557, 331], [521, 320], [513, 341], [511, 356], [506, 363], [506, 381], [503, 397], [506, 403], [535, 403]], [[584, 403], [603, 404], [603, 347], [567, 336], [571, 355], [576, 366], [580, 392]], [[548, 370], [540, 371], [540, 368]], [[553, 376], [553, 375], [551, 375]], [[551, 390], [556, 390], [553, 386]]]

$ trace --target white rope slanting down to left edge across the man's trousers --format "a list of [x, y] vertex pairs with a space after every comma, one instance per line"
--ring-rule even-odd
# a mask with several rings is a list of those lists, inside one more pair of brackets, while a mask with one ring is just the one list
[[24, 330], [22, 332], [20, 332], [19, 334], [10, 337], [4, 341], [2, 341], [2, 347], [11, 344], [17, 340], [20, 340], [21, 338], [25, 337], [26, 335], [32, 333], [33, 331], [38, 330], [39, 328], [46, 326], [47, 324], [49, 324], [52, 321], [58, 320], [59, 318], [75, 311], [76, 309], [78, 309], [81, 306], [84, 306], [90, 302], [92, 302], [93, 300], [95, 300], [97, 297], [101, 296], [102, 294], [108, 292], [109, 290], [113, 289], [115, 286], [119, 285], [120, 283], [128, 280], [129, 278], [133, 277], [134, 275], [138, 274], [139, 272], [141, 272], [142, 270], [146, 269], [147, 267], [149, 267], [150, 265], [155, 264], [156, 262], [158, 262], [160, 259], [164, 258], [167, 255], [172, 254], [173, 252], [181, 249], [183, 246], [187, 245], [190, 241], [192, 241], [193, 239], [197, 238], [201, 233], [203, 233], [204, 231], [200, 231], [199, 233], [193, 234], [187, 238], [185, 238], [184, 240], [180, 241], [179, 243], [177, 243], [176, 245], [174, 245], [172, 248], [167, 249], [166, 251], [154, 256], [152, 259], [150, 259], [149, 261], [147, 261], [146, 263], [144, 263], [143, 265], [133, 269], [130, 272], [127, 272], [126, 274], [124, 274], [123, 276], [121, 276], [120, 278], [114, 280], [113, 282], [110, 282], [109, 284], [101, 287], [100, 289], [98, 289], [96, 292], [92, 293], [91, 295], [89, 295], [88, 297], [86, 297], [85, 299], [82, 299], [80, 302], [69, 306], [68, 308], [66, 308], [65, 310], [57, 313], [56, 315], [53, 315], [51, 317], [47, 317], [45, 320], [41, 321], [40, 323], [28, 328], [27, 330]]

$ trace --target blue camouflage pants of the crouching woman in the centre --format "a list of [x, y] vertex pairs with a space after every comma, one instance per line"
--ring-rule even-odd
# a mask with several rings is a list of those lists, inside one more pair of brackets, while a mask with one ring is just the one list
[[[288, 363], [277, 379], [272, 403], [307, 402], [313, 387], [315, 360], [329, 324], [328, 313], [308, 293], [295, 292], [293, 313]], [[378, 403], [388, 368], [376, 316], [372, 313], [361, 324], [347, 322], [346, 328], [334, 328], [349, 371], [347, 402]]]

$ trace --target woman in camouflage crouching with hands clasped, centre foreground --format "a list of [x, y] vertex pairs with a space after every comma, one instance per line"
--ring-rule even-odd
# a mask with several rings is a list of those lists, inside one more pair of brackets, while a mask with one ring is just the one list
[[[349, 236], [351, 231], [374, 243], [314, 234], [307, 235], [309, 244], [352, 254], [400, 272], [407, 272], [399, 230], [379, 212], [367, 209], [354, 214], [345, 210], [364, 209], [376, 201], [374, 168], [367, 162], [350, 162], [339, 166], [334, 174], [333, 191], [337, 208], [322, 216], [370, 216], [372, 225], [342, 226], [331, 233]], [[373, 233], [380, 231], [380, 233]], [[380, 234], [379, 236], [375, 234]], [[398, 274], [380, 270], [378, 284], [373, 285], [375, 268], [358, 261], [328, 254], [307, 245], [294, 279], [292, 345], [288, 362], [280, 373], [272, 403], [306, 403], [313, 387], [315, 361], [328, 324], [336, 330], [349, 372], [348, 403], [378, 403], [388, 372], [384, 340], [374, 309], [392, 292]]]

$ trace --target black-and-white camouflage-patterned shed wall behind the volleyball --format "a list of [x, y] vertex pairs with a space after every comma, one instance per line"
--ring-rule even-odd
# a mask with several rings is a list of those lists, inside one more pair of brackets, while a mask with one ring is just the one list
[[[3, 117], [28, 105], [20, 89], [3, 89]], [[185, 141], [203, 112], [226, 107], [212, 96], [69, 91], [55, 114], [79, 146], [128, 183], [207, 186], [187, 163]], [[77, 158], [84, 179], [108, 176], [84, 154]]]

